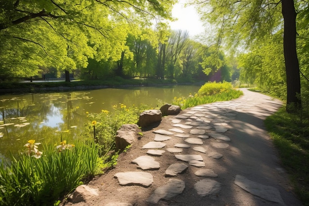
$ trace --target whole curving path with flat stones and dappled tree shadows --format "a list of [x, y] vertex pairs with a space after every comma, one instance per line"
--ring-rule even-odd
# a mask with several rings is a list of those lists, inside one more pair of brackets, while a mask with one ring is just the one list
[[244, 92], [164, 118], [165, 129], [154, 128], [130, 160], [136, 169], [114, 174], [119, 185], [148, 190], [148, 198], [105, 205], [300, 206], [263, 127], [280, 102]]

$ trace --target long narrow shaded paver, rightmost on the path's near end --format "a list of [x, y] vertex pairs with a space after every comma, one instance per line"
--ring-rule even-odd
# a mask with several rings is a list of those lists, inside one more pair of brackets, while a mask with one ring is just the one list
[[275, 187], [253, 182], [241, 175], [236, 175], [234, 184], [251, 193], [252, 195], [263, 198], [264, 200], [285, 205], [279, 190]]

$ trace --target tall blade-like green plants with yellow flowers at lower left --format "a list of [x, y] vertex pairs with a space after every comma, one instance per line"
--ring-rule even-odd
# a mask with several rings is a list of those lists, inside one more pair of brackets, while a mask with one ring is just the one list
[[[45, 145], [39, 159], [21, 154], [8, 165], [1, 162], [1, 206], [52, 205], [99, 171], [101, 159], [95, 144], [62, 142], [59, 146], [56, 150]], [[65, 149], [68, 146], [72, 149]], [[59, 152], [59, 148], [64, 150]]]

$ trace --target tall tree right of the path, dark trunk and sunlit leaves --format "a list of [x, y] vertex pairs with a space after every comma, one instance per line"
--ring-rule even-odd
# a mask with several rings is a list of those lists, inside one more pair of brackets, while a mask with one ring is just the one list
[[219, 42], [227, 40], [227, 45], [232, 49], [239, 45], [250, 49], [284, 26], [287, 105], [301, 104], [294, 0], [224, 0], [223, 2], [195, 0], [194, 2], [200, 5], [199, 12], [202, 18], [218, 26]]

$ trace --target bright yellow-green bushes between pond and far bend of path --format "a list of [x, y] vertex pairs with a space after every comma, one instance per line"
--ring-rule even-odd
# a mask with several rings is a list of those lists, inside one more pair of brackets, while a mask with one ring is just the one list
[[242, 95], [242, 91], [232, 88], [232, 84], [228, 82], [205, 83], [198, 90], [198, 93], [189, 95], [189, 97], [174, 97], [173, 104], [178, 105], [181, 109], [186, 109], [196, 105], [208, 104], [217, 101], [228, 101], [238, 98]]

